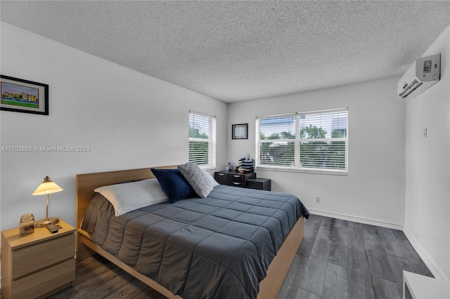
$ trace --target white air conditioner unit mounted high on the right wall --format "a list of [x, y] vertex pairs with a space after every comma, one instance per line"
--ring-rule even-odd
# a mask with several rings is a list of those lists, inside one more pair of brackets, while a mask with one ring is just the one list
[[397, 83], [400, 98], [416, 98], [439, 81], [441, 75], [441, 54], [416, 60]]

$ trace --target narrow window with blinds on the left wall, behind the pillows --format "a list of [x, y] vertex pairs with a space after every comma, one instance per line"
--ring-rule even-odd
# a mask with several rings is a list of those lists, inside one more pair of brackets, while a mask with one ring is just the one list
[[216, 168], [216, 117], [189, 111], [189, 161]]

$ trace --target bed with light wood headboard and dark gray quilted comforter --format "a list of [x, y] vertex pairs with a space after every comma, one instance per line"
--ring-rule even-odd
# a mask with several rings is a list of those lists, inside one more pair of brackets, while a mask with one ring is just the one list
[[[176, 166], [161, 166], [158, 167], [158, 169], [174, 169]], [[238, 207], [238, 210], [240, 209], [240, 206], [248, 206], [248, 203], [244, 202], [243, 200], [248, 200], [250, 197], [250, 201], [255, 201], [255, 207], [252, 207], [253, 210], [258, 210], [264, 208], [261, 208], [258, 204], [265, 206], [265, 205], [271, 205], [271, 204], [277, 204], [274, 203], [274, 201], [268, 201], [268, 203], [264, 204], [262, 201], [259, 201], [259, 199], [266, 197], [268, 195], [275, 194], [275, 197], [285, 197], [285, 194], [276, 193], [276, 192], [266, 192], [262, 190], [247, 190], [245, 188], [238, 188], [238, 187], [229, 187], [224, 185], [219, 185], [217, 187], [214, 187], [214, 190], [210, 192], [210, 195], [206, 199], [204, 198], [193, 198], [193, 199], [186, 199], [185, 201], [177, 201], [174, 204], [155, 204], [154, 206], [150, 207], [143, 207], [139, 208], [136, 211], [126, 213], [124, 215], [120, 215], [117, 218], [115, 216], [111, 217], [116, 222], [122, 222], [122, 223], [128, 223], [131, 225], [132, 230], [135, 230], [136, 227], [141, 227], [141, 224], [136, 225], [137, 220], [136, 219], [143, 219], [144, 212], [151, 212], [156, 213], [157, 216], [154, 216], [153, 214], [150, 216], [151, 218], [146, 218], [147, 220], [143, 220], [143, 222], [151, 222], [149, 227], [143, 227], [141, 228], [141, 232], [139, 232], [138, 235], [144, 235], [146, 233], [151, 234], [152, 240], [154, 239], [162, 239], [166, 240], [166, 243], [169, 243], [167, 240], [170, 238], [170, 246], [176, 247], [175, 253], [169, 254], [167, 253], [167, 256], [172, 255], [172, 260], [170, 260], [169, 263], [160, 263], [161, 270], [166, 270], [166, 272], [172, 271], [174, 268], [177, 269], [177, 272], [181, 272], [181, 276], [190, 277], [190, 279], [185, 279], [185, 281], [179, 281], [180, 279], [176, 277], [176, 275], [170, 273], [167, 275], [164, 274], [158, 274], [157, 272], [153, 270], [146, 269], [146, 266], [144, 267], [142, 263], [138, 265], [138, 263], [134, 263], [131, 258], [127, 258], [127, 255], [120, 254], [118, 251], [112, 250], [111, 248], [115, 248], [115, 246], [120, 245], [109, 245], [105, 246], [105, 244], [99, 244], [101, 242], [98, 241], [98, 236], [95, 236], [94, 234], [89, 234], [88, 231], [92, 230], [92, 227], [86, 230], [82, 229], [82, 224], [84, 225], [84, 228], [89, 227], [89, 225], [86, 225], [84, 222], [84, 216], [86, 214], [86, 211], [89, 212], [89, 209], [91, 209], [91, 206], [89, 206], [91, 200], [94, 201], [94, 198], [98, 197], [98, 194], [94, 192], [94, 190], [98, 187], [105, 186], [105, 185], [113, 185], [121, 182], [130, 182], [130, 181], [138, 181], [138, 180], [148, 180], [155, 178], [155, 175], [153, 175], [152, 171], [150, 171], [150, 168], [140, 168], [140, 169], [132, 169], [132, 170], [124, 170], [124, 171], [108, 171], [103, 173], [87, 173], [87, 174], [79, 174], [77, 175], [77, 259], [82, 260], [83, 258], [88, 257], [89, 255], [93, 255], [94, 253], [98, 253], [100, 255], [103, 255], [103, 257], [107, 258], [111, 262], [115, 263], [115, 265], [121, 267], [123, 270], [128, 272], [129, 274], [133, 275], [137, 279], [140, 279], [145, 284], [150, 286], [151, 288], [154, 288], [156, 291], [162, 293], [163, 295], [167, 296], [167, 298], [195, 298], [199, 294], [198, 288], [205, 288], [205, 290], [201, 290], [200, 297], [198, 298], [224, 298], [226, 296], [229, 296], [230, 298], [233, 298], [238, 296], [238, 298], [276, 298], [276, 295], [278, 295], [278, 291], [281, 288], [281, 285], [283, 284], [283, 281], [285, 279], [286, 274], [288, 273], [288, 270], [290, 268], [291, 263], [293, 262], [293, 259], [295, 257], [295, 253], [297, 253], [298, 248], [300, 247], [300, 244], [303, 239], [304, 235], [304, 218], [308, 217], [309, 213], [307, 212], [307, 209], [304, 208], [304, 206], [300, 203], [300, 212], [285, 212], [285, 213], [291, 213], [293, 215], [288, 216], [288, 224], [287, 225], [275, 225], [276, 219], [270, 219], [270, 220], [264, 220], [264, 225], [268, 227], [277, 227], [275, 229], [279, 232], [273, 233], [273, 232], [266, 232], [267, 227], [262, 225], [261, 227], [258, 227], [257, 229], [250, 231], [248, 230], [249, 225], [252, 225], [253, 220], [248, 220], [250, 218], [255, 218], [255, 221], [261, 222], [260, 216], [252, 216], [248, 217], [248, 215], [245, 215], [245, 217], [238, 217], [240, 220], [238, 222], [248, 222], [247, 223], [247, 229], [240, 230], [239, 228], [236, 228], [234, 225], [236, 223], [231, 222], [229, 220], [224, 220], [224, 223], [220, 223], [223, 219], [219, 215], [219, 218], [217, 218], [217, 213], [224, 213], [224, 205], [226, 205], [226, 211], [231, 211], [228, 207], [234, 206]], [[231, 188], [231, 189], [230, 189]], [[252, 194], [248, 194], [247, 192], [254, 192]], [[265, 192], [265, 193], [264, 193]], [[95, 195], [95, 197], [94, 197]], [[290, 194], [286, 194], [288, 197], [293, 197]], [[296, 197], [295, 198], [298, 202]], [[226, 202], [226, 200], [235, 200], [236, 202]], [[98, 199], [95, 199], [98, 201]], [[103, 200], [103, 199], [100, 199]], [[285, 199], [282, 199], [285, 200]], [[278, 199], [276, 199], [278, 201]], [[101, 202], [101, 201], [100, 201]], [[212, 206], [221, 206], [222, 208], [220, 211], [212, 211], [210, 210], [211, 206], [205, 205], [205, 203], [211, 203]], [[223, 204], [225, 202], [225, 204]], [[289, 202], [295, 202], [293, 199], [289, 199]], [[215, 204], [214, 204], [215, 203]], [[219, 203], [219, 204], [217, 204]], [[277, 204], [280, 206], [280, 204]], [[286, 206], [289, 204], [281, 204], [281, 206]], [[292, 205], [292, 204], [291, 204]], [[88, 208], [89, 206], [89, 208]], [[101, 204], [103, 206], [103, 204]], [[186, 211], [184, 210], [186, 209]], [[173, 213], [173, 211], [177, 211], [176, 213]], [[179, 211], [181, 211], [179, 213]], [[174, 219], [170, 219], [169, 215], [173, 213], [175, 216]], [[233, 213], [233, 212], [231, 212]], [[263, 214], [265, 212], [263, 211]], [[281, 212], [278, 212], [280, 214]], [[283, 212], [284, 213], [284, 212]], [[300, 213], [300, 215], [298, 215]], [[197, 217], [198, 214], [205, 214], [207, 218], [211, 218], [214, 216], [215, 220], [220, 219], [218, 221], [212, 221], [213, 226], [217, 226], [217, 229], [219, 232], [210, 233], [210, 227], [205, 227], [204, 220]], [[297, 215], [294, 215], [297, 214]], [[179, 215], [188, 215], [185, 218], [179, 216]], [[264, 215], [263, 215], [264, 216]], [[263, 217], [261, 216], [261, 217]], [[91, 217], [91, 216], [89, 216]], [[109, 217], [109, 216], [108, 216]], [[158, 217], [161, 219], [161, 221], [154, 221], [149, 220], [153, 219], [155, 217]], [[227, 218], [229, 216], [224, 216], [224, 218]], [[231, 217], [231, 216], [230, 216]], [[234, 217], [234, 216], [233, 216]], [[231, 218], [233, 218], [231, 217]], [[278, 217], [278, 216], [277, 216]], [[245, 219], [245, 220], [243, 220]], [[167, 221], [167, 222], [165, 222]], [[170, 222], [169, 222], [170, 221]], [[165, 232], [166, 230], [172, 230], [171, 225], [159, 225], [160, 227], [163, 227], [163, 231], [155, 231], [155, 225], [161, 224], [161, 223], [171, 223], [174, 222], [176, 224], [172, 223], [172, 226], [179, 225], [180, 226], [180, 232]], [[149, 223], [147, 223], [149, 224]], [[120, 229], [121, 230], [121, 229]], [[122, 232], [119, 232], [119, 234], [122, 234], [122, 238], [124, 239], [125, 234], [124, 232], [129, 231], [129, 229], [124, 229]], [[200, 235], [205, 235], [205, 239], [203, 240], [197, 240], [195, 238], [195, 232], [198, 231]], [[219, 253], [214, 253], [215, 250], [221, 251], [225, 247], [225, 251], [228, 251], [228, 246], [222, 246], [223, 244], [231, 244], [229, 247], [233, 247], [233, 242], [235, 241], [226, 241], [221, 242], [217, 241], [217, 239], [214, 239], [214, 237], [217, 234], [220, 234], [221, 232], [226, 232], [226, 234], [231, 234], [231, 239], [238, 239], [237, 242], [242, 241], [240, 238], [240, 234], [248, 234], [248, 238], [245, 241], [241, 242], [242, 244], [237, 244], [236, 248], [238, 248], [238, 251], [236, 253], [233, 253], [233, 256], [231, 258], [224, 257], [220, 255]], [[113, 232], [113, 230], [111, 230]], [[114, 231], [115, 232], [115, 231]], [[182, 239], [183, 234], [186, 234], [188, 232], [189, 239]], [[174, 234], [173, 234], [174, 233]], [[116, 233], [115, 233], [116, 234]], [[238, 234], [237, 236], [234, 236], [233, 234]], [[272, 235], [273, 234], [273, 235]], [[279, 241], [277, 235], [281, 234], [283, 235], [283, 238], [281, 241]], [[92, 236], [92, 237], [91, 237]], [[158, 237], [158, 238], [155, 238]], [[175, 237], [174, 237], [175, 236]], [[181, 236], [181, 237], [180, 237]], [[256, 237], [255, 237], [256, 236]], [[237, 238], [236, 238], [237, 237]], [[100, 239], [104, 239], [103, 237], [100, 237]], [[120, 238], [118, 238], [120, 239]], [[146, 237], [142, 237], [142, 239], [146, 239]], [[148, 238], [147, 238], [148, 239]], [[266, 243], [272, 244], [274, 248], [270, 248], [271, 246], [259, 246], [254, 245], [253, 242], [255, 239], [260, 239], [265, 241]], [[278, 241], [277, 241], [278, 240]], [[124, 244], [131, 244], [134, 242], [125, 241]], [[223, 243], [223, 244], [221, 244]], [[201, 244], [201, 246], [200, 246]], [[217, 246], [217, 244], [221, 244], [221, 246]], [[103, 245], [103, 246], [101, 246]], [[151, 253], [151, 250], [149, 253], [147, 253], [147, 258], [142, 258], [144, 255], [144, 251], [142, 248], [148, 249], [149, 246], [143, 246], [140, 245], [141, 249], [139, 249], [138, 256], [139, 258], [135, 258], [135, 260], [149, 260], [152, 261], [153, 256], [155, 252]], [[161, 246], [160, 244], [156, 244], [155, 246]], [[106, 248], [106, 249], [105, 249]], [[181, 248], [181, 249], [180, 249]], [[243, 248], [250, 248], [250, 251], [253, 250], [254, 253], [248, 254], [245, 253]], [[265, 248], [265, 249], [264, 249]], [[233, 249], [233, 248], [231, 248]], [[231, 250], [230, 249], [230, 250]], [[136, 248], [131, 248], [131, 251], [136, 251]], [[182, 250], [182, 251], [180, 251]], [[190, 258], [179, 258], [181, 256], [185, 256], [184, 253], [189, 253], [190, 251], [194, 252], [194, 250], [199, 250], [197, 253], [192, 253]], [[164, 251], [166, 252], [166, 251]], [[169, 251], [167, 251], [169, 252]], [[165, 254], [166, 255], [166, 254]], [[203, 255], [208, 255], [207, 259]], [[246, 265], [243, 267], [237, 267], [236, 264], [236, 258], [234, 255], [243, 255], [245, 258]], [[249, 258], [255, 255], [255, 258]], [[258, 256], [256, 256], [258, 255]], [[173, 256], [178, 258], [173, 258]], [[200, 257], [200, 258], [199, 258]], [[209, 259], [209, 260], [208, 260]], [[212, 261], [210, 261], [212, 260]], [[180, 263], [180, 265], [177, 265], [176, 263]], [[185, 266], [181, 263], [187, 263], [188, 265]], [[212, 265], [209, 265], [208, 270], [200, 270], [197, 265], [200, 264], [208, 264], [208, 263], [219, 263], [225, 265], [226, 268], [225, 272], [216, 272], [214, 267]], [[244, 262], [243, 262], [244, 263]], [[203, 265], [205, 266], [205, 265]], [[255, 267], [255, 270], [250, 270], [250, 267]], [[185, 269], [186, 268], [186, 269]], [[181, 269], [181, 270], [178, 270]], [[231, 269], [231, 270], [230, 270]], [[159, 270], [159, 269], [158, 269]], [[186, 274], [186, 271], [189, 273]], [[203, 272], [205, 271], [205, 272]], [[227, 273], [227, 272], [231, 272]], [[236, 273], [241, 272], [241, 278], [242, 276], [250, 277], [250, 281], [240, 281], [240, 277], [236, 276]], [[178, 274], [177, 274], [178, 275]], [[239, 273], [238, 273], [239, 275]], [[169, 279], [169, 277], [172, 276], [172, 279]], [[207, 276], [207, 277], [205, 277]], [[224, 278], [226, 277], [226, 278]], [[229, 279], [229, 277], [232, 277]], [[203, 280], [202, 280], [203, 279]], [[246, 278], [245, 278], [246, 279]], [[190, 281], [189, 283], [187, 281]], [[214, 283], [210, 284], [210, 281], [215, 281]], [[225, 282], [223, 282], [225, 281]], [[256, 283], [255, 283], [256, 281]], [[259, 282], [259, 283], [258, 283]], [[240, 284], [239, 286], [237, 284]], [[256, 285], [255, 285], [256, 284]], [[233, 290], [233, 291], [230, 291]], [[197, 292], [197, 293], [195, 293]], [[225, 295], [226, 293], [226, 295]], [[176, 295], [180, 294], [180, 295]]]

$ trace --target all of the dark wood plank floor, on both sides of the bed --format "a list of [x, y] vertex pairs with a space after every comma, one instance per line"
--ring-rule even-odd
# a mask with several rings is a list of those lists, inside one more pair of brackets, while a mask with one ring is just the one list
[[[278, 299], [401, 298], [402, 270], [432, 276], [403, 232], [311, 215]], [[75, 286], [51, 298], [165, 296], [94, 255], [77, 263]]]

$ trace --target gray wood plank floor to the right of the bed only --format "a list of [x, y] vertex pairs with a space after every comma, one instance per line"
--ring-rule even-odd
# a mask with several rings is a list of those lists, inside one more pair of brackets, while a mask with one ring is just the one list
[[432, 277], [403, 232], [311, 215], [278, 299], [402, 298], [403, 270]]

